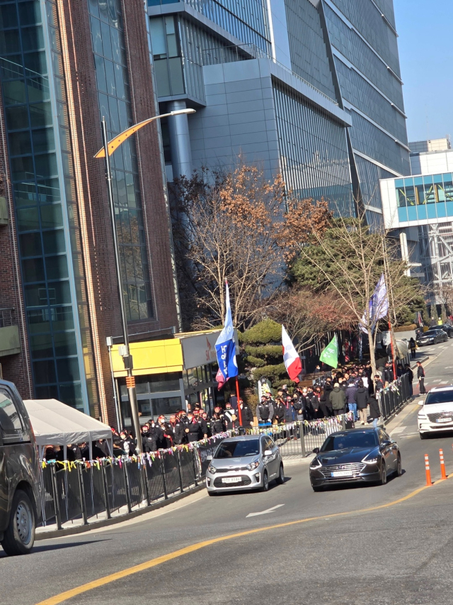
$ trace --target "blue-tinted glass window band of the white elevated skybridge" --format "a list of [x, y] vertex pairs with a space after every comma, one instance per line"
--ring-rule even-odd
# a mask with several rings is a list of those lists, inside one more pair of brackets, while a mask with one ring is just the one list
[[400, 222], [453, 216], [453, 174], [430, 174], [395, 180]]

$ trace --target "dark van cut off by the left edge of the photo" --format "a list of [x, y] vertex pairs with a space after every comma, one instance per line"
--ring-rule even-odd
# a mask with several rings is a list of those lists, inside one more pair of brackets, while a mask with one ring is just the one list
[[35, 435], [16, 387], [0, 380], [0, 543], [7, 555], [30, 553], [40, 510]]

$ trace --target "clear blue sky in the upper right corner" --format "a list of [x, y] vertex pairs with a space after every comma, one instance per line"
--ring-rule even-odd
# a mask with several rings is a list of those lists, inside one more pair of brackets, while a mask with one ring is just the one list
[[453, 0], [394, 0], [394, 8], [408, 138], [453, 136]]

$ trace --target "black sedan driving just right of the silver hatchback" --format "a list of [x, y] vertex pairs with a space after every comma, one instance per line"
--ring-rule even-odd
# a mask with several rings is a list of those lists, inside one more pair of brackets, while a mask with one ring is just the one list
[[328, 435], [310, 464], [314, 492], [340, 483], [386, 484], [391, 473], [401, 475], [401, 453], [383, 428], [352, 428]]

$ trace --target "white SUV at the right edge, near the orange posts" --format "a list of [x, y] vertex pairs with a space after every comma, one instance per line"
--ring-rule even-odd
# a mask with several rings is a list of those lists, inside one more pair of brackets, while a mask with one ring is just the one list
[[428, 433], [453, 431], [453, 387], [434, 387], [420, 401], [418, 412], [418, 432], [420, 439]]

